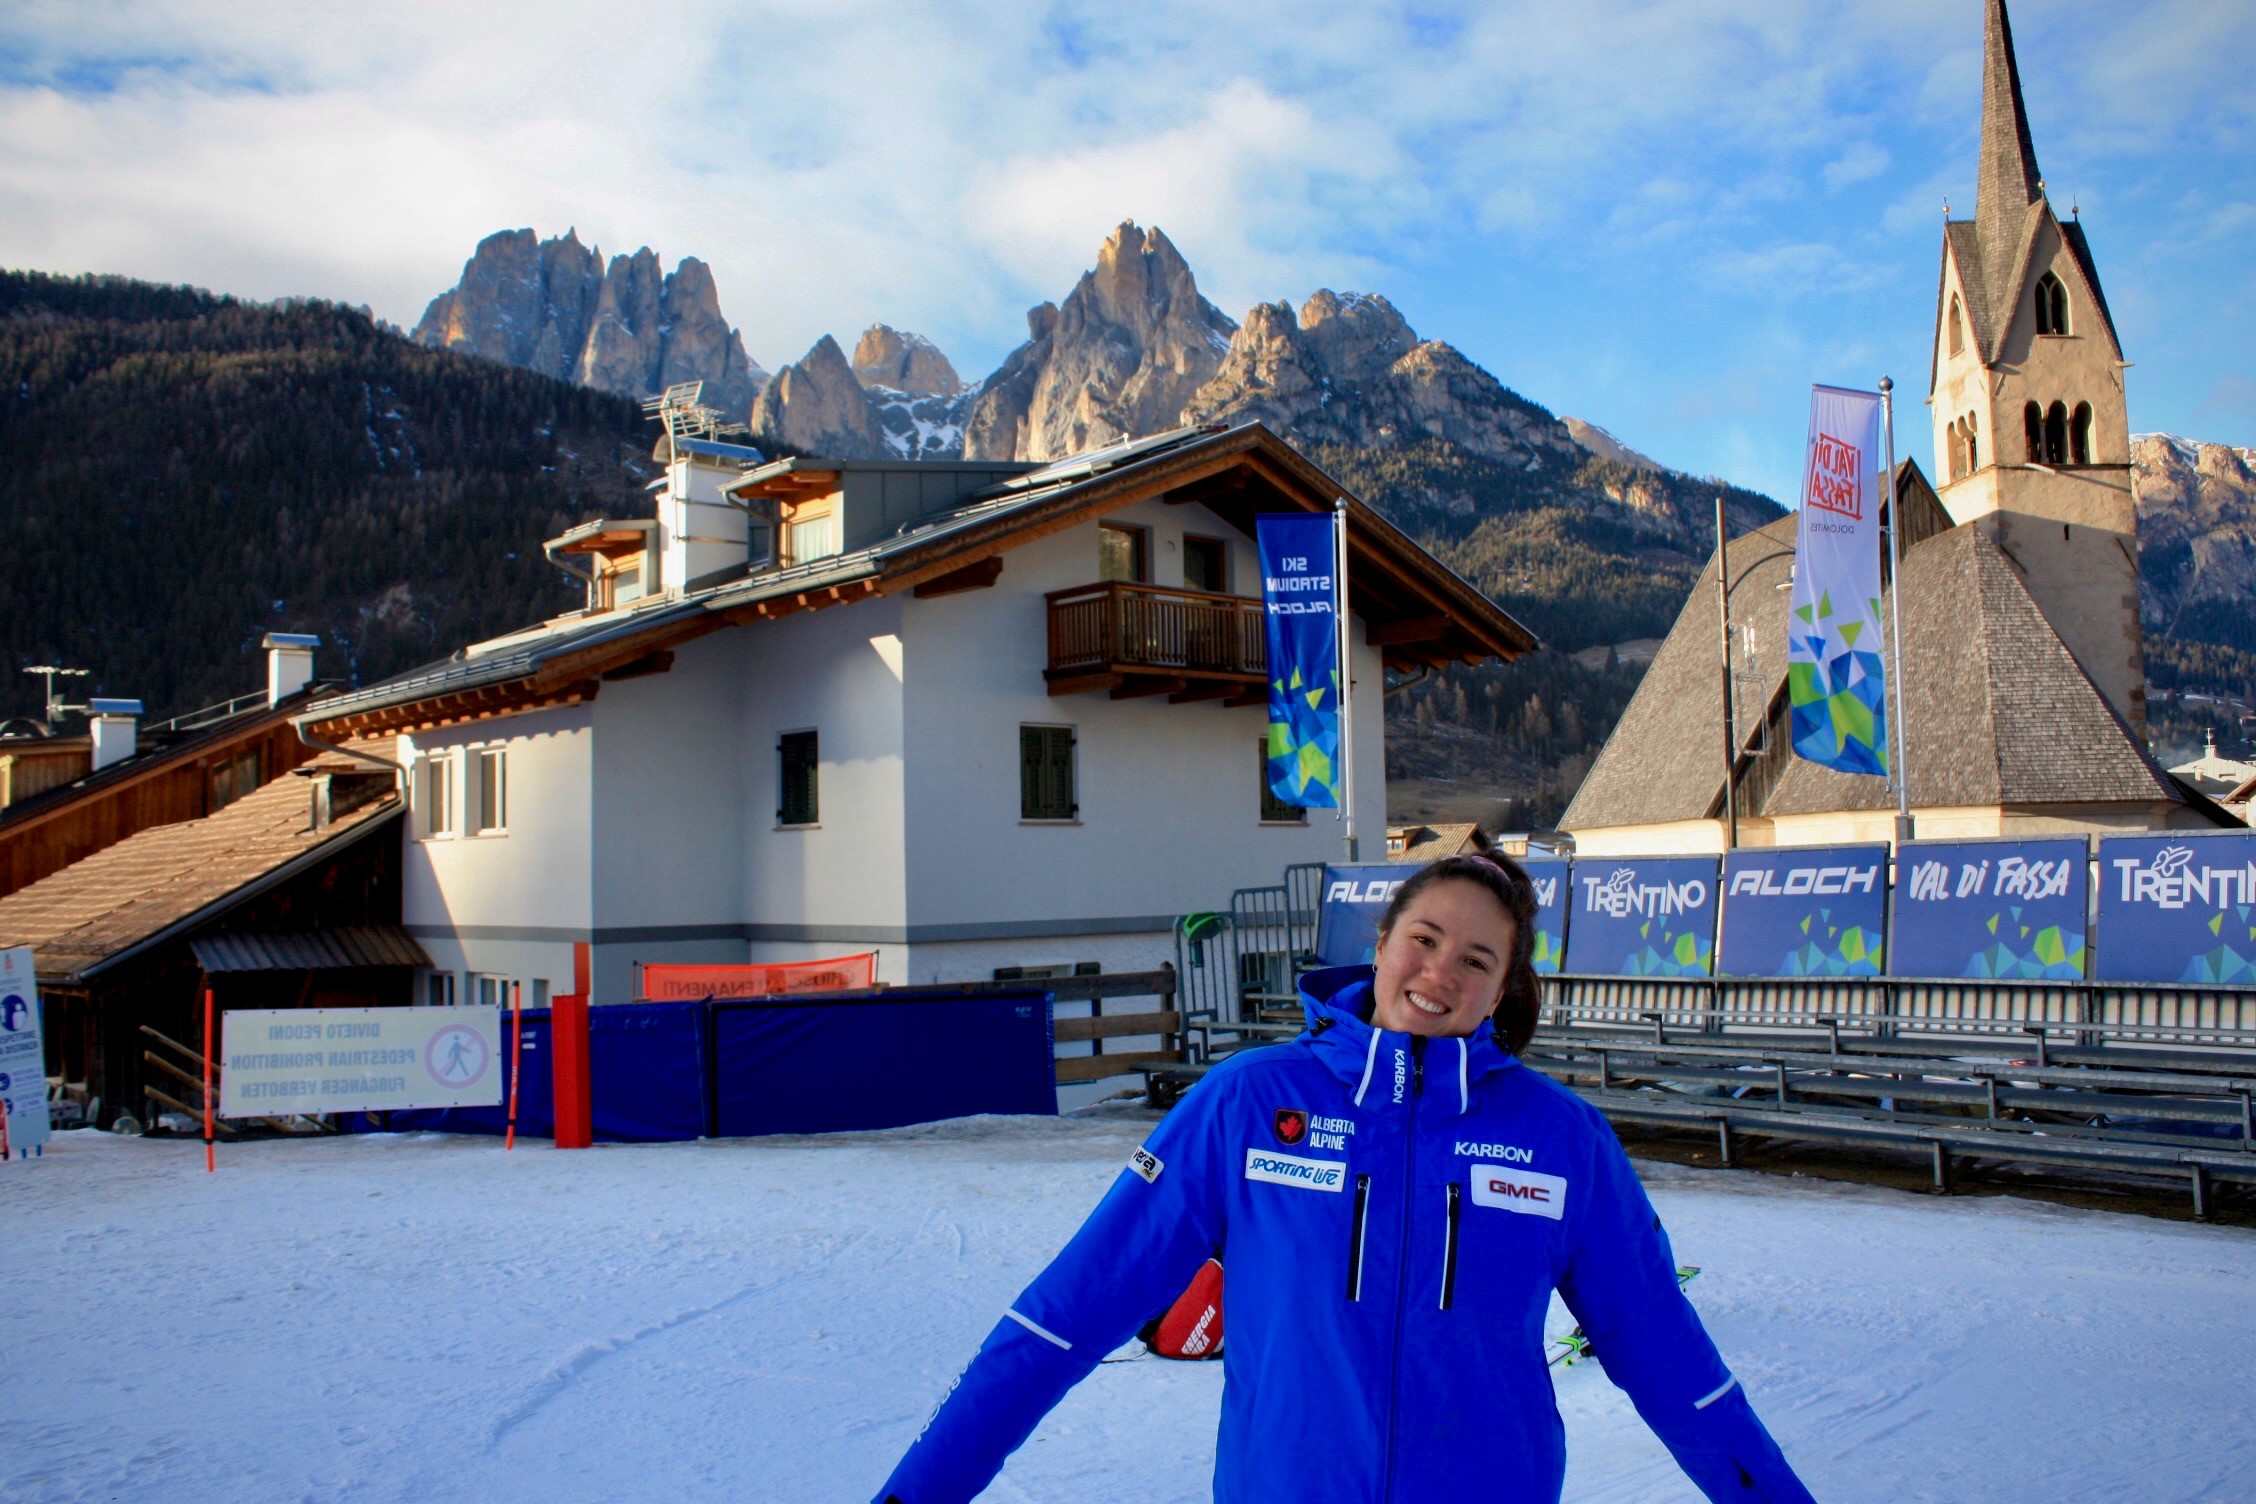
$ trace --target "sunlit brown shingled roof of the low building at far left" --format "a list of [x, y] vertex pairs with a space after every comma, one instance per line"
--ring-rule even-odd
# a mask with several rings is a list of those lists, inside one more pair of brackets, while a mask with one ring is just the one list
[[397, 821], [386, 794], [314, 828], [311, 789], [277, 778], [217, 814], [126, 837], [0, 897], [0, 945], [29, 945], [41, 981], [83, 981]]

